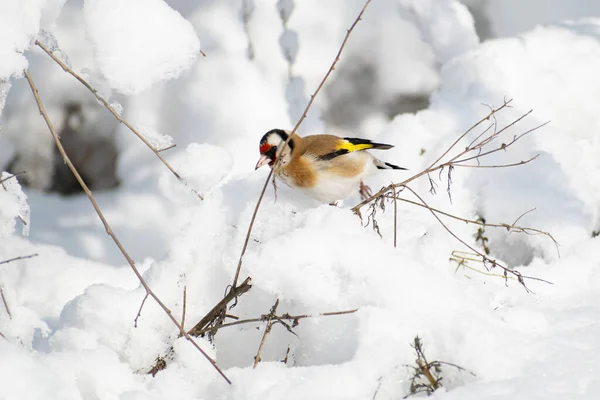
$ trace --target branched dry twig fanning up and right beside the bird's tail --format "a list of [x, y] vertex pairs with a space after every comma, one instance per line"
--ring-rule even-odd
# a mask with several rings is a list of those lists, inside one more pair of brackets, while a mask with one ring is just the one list
[[[505, 109], [506, 107], [509, 107], [511, 102], [512, 102], [512, 100], [510, 100], [510, 99], [504, 100], [503, 104], [500, 107], [492, 108], [485, 117], [481, 118], [477, 123], [475, 123], [469, 129], [467, 129], [463, 134], [461, 134], [458, 137], [458, 139], [456, 139], [454, 141], [454, 143], [452, 143], [450, 145], [450, 147], [448, 147], [444, 151], [444, 153], [442, 153], [442, 155], [440, 157], [438, 157], [433, 163], [431, 163], [431, 165], [429, 165], [427, 168], [425, 168], [421, 172], [409, 177], [408, 179], [404, 180], [403, 182], [392, 183], [392, 184], [382, 188], [379, 192], [375, 193], [368, 199], [363, 200], [360, 203], [358, 203], [356, 206], [352, 207], [352, 211], [355, 214], [360, 216], [361, 215], [360, 210], [362, 207], [364, 207], [367, 204], [373, 203], [377, 199], [380, 199], [382, 195], [384, 195], [387, 192], [392, 191], [393, 187], [396, 187], [396, 188], [404, 187], [408, 183], [410, 183], [424, 175], [427, 175], [429, 177], [431, 191], [435, 192], [435, 188], [434, 188], [435, 182], [433, 181], [433, 179], [431, 178], [430, 175], [433, 172], [438, 172], [439, 174], [441, 174], [441, 172], [445, 168], [448, 169], [448, 188], [449, 188], [450, 184], [451, 184], [452, 171], [454, 168], [457, 168], [457, 167], [462, 167], [462, 168], [507, 168], [507, 167], [515, 167], [515, 166], [524, 165], [524, 164], [530, 163], [531, 161], [535, 160], [538, 157], [538, 155], [535, 155], [527, 160], [522, 160], [522, 161], [515, 162], [515, 163], [496, 164], [496, 165], [481, 165], [480, 164], [480, 161], [483, 157], [489, 156], [489, 155], [497, 153], [499, 151], [507, 150], [510, 146], [515, 144], [517, 141], [519, 141], [526, 135], [528, 135], [528, 134], [540, 129], [541, 127], [545, 126], [546, 124], [548, 124], [548, 122], [545, 122], [543, 124], [537, 125], [534, 128], [531, 128], [531, 129], [521, 133], [520, 135], [513, 136], [513, 138], [510, 141], [507, 141], [506, 143], [500, 143], [496, 147], [492, 147], [491, 149], [488, 149], [488, 147], [486, 147], [486, 146], [490, 145], [490, 143], [492, 143], [494, 140], [498, 139], [498, 137], [502, 133], [506, 132], [509, 128], [514, 127], [517, 123], [521, 122], [524, 118], [526, 118], [532, 112], [532, 110], [530, 110], [530, 111], [524, 113], [523, 115], [521, 115], [519, 118], [512, 121], [511, 123], [507, 124], [503, 128], [498, 129], [497, 122], [495, 120], [496, 114], [498, 112], [500, 112], [501, 110]], [[474, 129], [478, 128], [480, 125], [482, 125], [486, 121], [489, 121], [490, 119], [493, 119], [494, 122], [489, 127], [487, 127], [482, 133], [477, 135], [475, 137], [475, 139], [473, 141], [471, 141], [471, 143], [469, 143], [464, 148], [464, 150], [461, 150], [454, 156], [451, 156], [450, 159], [444, 160], [450, 154], [450, 152], [458, 145], [458, 143], [460, 143], [469, 133], [471, 133]], [[469, 164], [468, 163], [469, 161], [475, 162], [475, 164]]]

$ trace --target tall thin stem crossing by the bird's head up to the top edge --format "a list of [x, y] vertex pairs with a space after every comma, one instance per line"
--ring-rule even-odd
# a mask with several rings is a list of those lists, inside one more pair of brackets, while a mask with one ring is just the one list
[[[302, 116], [300, 117], [300, 119], [296, 123], [296, 126], [294, 126], [294, 129], [292, 130], [292, 133], [296, 133], [298, 131], [298, 128], [300, 127], [300, 125], [302, 124], [302, 122], [304, 121], [304, 119], [306, 118], [306, 116], [308, 115], [308, 111], [310, 110], [310, 107], [312, 106], [313, 101], [315, 100], [315, 97], [317, 97], [317, 95], [321, 91], [321, 88], [323, 87], [323, 85], [325, 85], [325, 82], [327, 81], [327, 78], [329, 78], [329, 75], [331, 75], [331, 73], [335, 69], [335, 66], [338, 63], [338, 61], [340, 61], [340, 56], [342, 55], [342, 51], [344, 50], [344, 47], [346, 46], [346, 42], [348, 41], [348, 38], [350, 37], [350, 34], [352, 33], [352, 31], [354, 30], [354, 28], [358, 24], [358, 21], [360, 21], [362, 19], [362, 16], [365, 13], [365, 10], [367, 9], [367, 6], [369, 5], [370, 2], [371, 2], [371, 0], [367, 0], [365, 2], [365, 5], [360, 10], [360, 13], [358, 14], [358, 16], [356, 17], [356, 19], [354, 20], [354, 23], [352, 23], [352, 25], [350, 26], [350, 28], [346, 32], [346, 36], [344, 37], [344, 40], [342, 41], [342, 44], [340, 45], [340, 49], [338, 50], [338, 52], [337, 52], [337, 54], [335, 56], [335, 59], [333, 60], [333, 62], [331, 63], [331, 66], [329, 67], [329, 70], [327, 71], [327, 73], [325, 74], [325, 76], [323, 77], [323, 79], [321, 80], [321, 83], [319, 83], [319, 86], [317, 87], [317, 90], [315, 90], [315, 92], [310, 96], [310, 100], [309, 100], [308, 104], [306, 105], [306, 108], [304, 109], [304, 112], [302, 113]], [[278, 150], [277, 156], [276, 156], [277, 162], [279, 162], [279, 160], [281, 159], [281, 157], [280, 157], [281, 156], [281, 152], [283, 151], [283, 149], [288, 144], [288, 142], [290, 141], [291, 138], [292, 138], [292, 135], [289, 135], [288, 138], [287, 138], [287, 140], [285, 141], [285, 143]], [[265, 180], [265, 184], [263, 186], [263, 189], [262, 189], [262, 191], [260, 193], [260, 196], [258, 197], [258, 201], [256, 202], [256, 207], [254, 207], [254, 212], [252, 214], [252, 219], [250, 220], [250, 226], [248, 227], [248, 232], [246, 233], [246, 240], [244, 241], [244, 246], [242, 247], [242, 253], [240, 254], [240, 258], [239, 258], [239, 261], [238, 261], [237, 269], [235, 271], [235, 277], [233, 278], [233, 284], [231, 285], [232, 288], [235, 288], [236, 285], [237, 285], [237, 281], [238, 281], [239, 276], [240, 276], [240, 270], [242, 268], [242, 260], [244, 258], [244, 254], [246, 254], [246, 249], [248, 247], [248, 242], [250, 240], [250, 234], [252, 233], [252, 228], [254, 227], [254, 221], [256, 219], [256, 214], [258, 213], [258, 209], [260, 208], [260, 204], [262, 203], [262, 199], [265, 196], [265, 191], [267, 190], [267, 186], [269, 185], [269, 181], [271, 180], [272, 176], [273, 176], [273, 169], [271, 169], [269, 171], [269, 175], [267, 176], [267, 179]]]

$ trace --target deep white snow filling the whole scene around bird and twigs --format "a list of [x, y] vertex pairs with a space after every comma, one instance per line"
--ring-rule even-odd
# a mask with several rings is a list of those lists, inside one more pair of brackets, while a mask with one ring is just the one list
[[[65, 104], [79, 103], [90, 135], [114, 136], [120, 185], [94, 195], [177, 319], [185, 287], [189, 328], [235, 275], [267, 174], [254, 171], [260, 137], [295, 125], [363, 2], [1, 2], [0, 169], [18, 155], [26, 173], [0, 177], [0, 262], [37, 256], [0, 263], [0, 399], [399, 399], [410, 390], [415, 336], [430, 361], [474, 374], [443, 367], [434, 398], [599, 397], [600, 8], [464, 3], [485, 15], [491, 39], [480, 40], [481, 27], [456, 0], [373, 0], [300, 132], [395, 144], [379, 155], [410, 171], [373, 176], [378, 189], [434, 161], [489, 112], [483, 104], [513, 99], [500, 125], [533, 109], [502, 140], [550, 124], [482, 163], [539, 154], [534, 162], [457, 168], [452, 201], [445, 173], [432, 177], [436, 195], [426, 177], [411, 187], [433, 207], [491, 223], [535, 208], [519, 225], [551, 232], [558, 250], [543, 235], [484, 234], [492, 257], [553, 284], [528, 280], [528, 293], [480, 273], [477, 262], [468, 265], [479, 272], [457, 269], [450, 257], [465, 247], [422, 208], [398, 204], [395, 248], [391, 204], [377, 214], [380, 237], [351, 212], [358, 196], [330, 207], [280, 184], [277, 199], [266, 192], [243, 260], [241, 280], [252, 277], [252, 289], [230, 313], [255, 318], [276, 299], [278, 313], [358, 311], [303, 319], [297, 336], [275, 324], [256, 368], [264, 322], [223, 328], [213, 343], [198, 338], [229, 385], [152, 299], [134, 327], [144, 289], [87, 197], [42, 190], [54, 145], [22, 70], [57, 131], [72, 124]], [[153, 143], [172, 138], [177, 147], [161, 154], [204, 200], [35, 38]], [[400, 113], [417, 98], [426, 99], [422, 110]], [[481, 248], [476, 226], [444, 222]], [[171, 346], [167, 368], [147, 375]]]

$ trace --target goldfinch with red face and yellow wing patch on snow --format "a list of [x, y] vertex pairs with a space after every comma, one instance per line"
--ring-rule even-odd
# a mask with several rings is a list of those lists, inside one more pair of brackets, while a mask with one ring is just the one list
[[377, 159], [369, 149], [388, 150], [392, 145], [367, 139], [341, 138], [334, 135], [292, 137], [277, 161], [279, 148], [291, 132], [272, 129], [260, 140], [258, 169], [266, 164], [289, 187], [298, 189], [319, 201], [335, 204], [358, 191], [363, 198], [370, 195], [363, 178], [377, 169], [403, 169]]

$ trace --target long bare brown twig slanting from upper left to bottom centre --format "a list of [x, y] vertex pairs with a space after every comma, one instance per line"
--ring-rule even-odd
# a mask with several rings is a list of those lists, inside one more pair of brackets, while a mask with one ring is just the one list
[[100, 218], [100, 220], [102, 221], [102, 224], [104, 225], [104, 229], [106, 230], [106, 233], [111, 237], [111, 239], [113, 240], [113, 242], [117, 245], [117, 247], [119, 248], [119, 251], [121, 252], [121, 254], [123, 254], [123, 257], [125, 257], [125, 259], [127, 260], [127, 263], [129, 264], [129, 266], [133, 270], [135, 276], [138, 278], [140, 284], [146, 290], [146, 293], [150, 297], [152, 297], [154, 299], [154, 301], [156, 301], [156, 303], [160, 306], [160, 308], [164, 311], [164, 313], [169, 317], [169, 319], [171, 320], [171, 322], [173, 322], [173, 324], [177, 327], [177, 329], [180, 332], [184, 332], [185, 338], [190, 343], [192, 343], [192, 345], [198, 351], [200, 351], [200, 353], [202, 353], [202, 355], [212, 364], [212, 366], [223, 377], [223, 379], [225, 379], [225, 381], [227, 381], [227, 383], [231, 384], [231, 381], [229, 380], [229, 378], [227, 378], [227, 376], [225, 375], [225, 373], [223, 373], [223, 371], [221, 370], [221, 368], [219, 368], [219, 366], [217, 365], [217, 363], [215, 362], [215, 360], [213, 360], [204, 350], [202, 350], [202, 348], [198, 345], [198, 343], [196, 343], [196, 341], [189, 334], [187, 334], [187, 332], [185, 332], [183, 330], [183, 328], [181, 327], [181, 325], [179, 324], [179, 322], [173, 316], [171, 310], [158, 298], [158, 296], [152, 291], [152, 289], [150, 288], [150, 286], [148, 286], [148, 283], [146, 282], [146, 280], [144, 279], [144, 277], [142, 276], [142, 274], [137, 269], [137, 266], [135, 265], [135, 262], [129, 256], [129, 253], [127, 253], [127, 251], [125, 250], [125, 248], [123, 247], [123, 245], [121, 244], [121, 242], [119, 241], [119, 239], [117, 238], [117, 236], [114, 234], [112, 228], [108, 224], [108, 221], [106, 220], [106, 218], [104, 217], [104, 214], [100, 210], [100, 207], [98, 206], [98, 203], [96, 202], [96, 199], [92, 195], [92, 192], [90, 191], [89, 187], [83, 181], [83, 179], [81, 178], [81, 175], [79, 175], [79, 172], [77, 171], [77, 169], [75, 168], [75, 166], [71, 162], [71, 159], [69, 158], [69, 156], [65, 152], [65, 149], [64, 149], [64, 147], [63, 147], [63, 145], [62, 145], [62, 143], [60, 141], [60, 138], [58, 137], [58, 134], [56, 133], [56, 130], [54, 129], [54, 126], [52, 125], [52, 122], [50, 121], [50, 118], [48, 117], [48, 114], [46, 113], [46, 111], [44, 109], [44, 105], [42, 104], [42, 100], [40, 99], [40, 95], [38, 93], [38, 90], [37, 90], [35, 84], [33, 83], [33, 80], [31, 79], [31, 76], [29, 75], [29, 72], [24, 71], [24, 73], [25, 73], [25, 78], [27, 78], [27, 82], [29, 83], [29, 86], [31, 87], [31, 91], [32, 91], [33, 96], [35, 98], [35, 101], [37, 103], [37, 106], [38, 106], [38, 109], [40, 111], [40, 114], [42, 115], [42, 117], [44, 117], [44, 121], [46, 121], [46, 125], [48, 126], [48, 129], [50, 130], [50, 134], [52, 135], [52, 138], [54, 139], [54, 143], [56, 144], [56, 148], [60, 152], [60, 154], [61, 154], [61, 156], [62, 156], [65, 164], [67, 164], [67, 166], [69, 167], [69, 169], [71, 170], [71, 172], [75, 176], [75, 179], [77, 179], [77, 182], [79, 182], [79, 185], [81, 186], [81, 188], [85, 192], [86, 196], [88, 197], [88, 199], [92, 203], [92, 206], [94, 207], [94, 210], [96, 211], [96, 214], [98, 214], [98, 217]]

